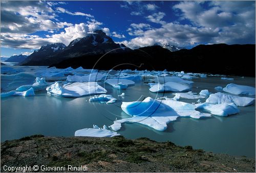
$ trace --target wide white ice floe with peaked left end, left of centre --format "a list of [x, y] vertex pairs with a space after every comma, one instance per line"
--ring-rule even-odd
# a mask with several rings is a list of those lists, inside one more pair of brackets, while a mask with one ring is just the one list
[[74, 82], [62, 84], [57, 81], [54, 84], [46, 88], [46, 91], [50, 95], [60, 97], [81, 97], [90, 94], [104, 94], [107, 91], [98, 85], [97, 82]]

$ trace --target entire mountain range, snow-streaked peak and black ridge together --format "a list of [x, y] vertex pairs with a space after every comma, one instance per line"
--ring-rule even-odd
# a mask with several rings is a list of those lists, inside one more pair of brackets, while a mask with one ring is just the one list
[[255, 76], [255, 45], [199, 45], [187, 50], [166, 44], [132, 50], [116, 44], [111, 37], [97, 30], [71, 41], [67, 47], [63, 44], [42, 46], [20, 64]]

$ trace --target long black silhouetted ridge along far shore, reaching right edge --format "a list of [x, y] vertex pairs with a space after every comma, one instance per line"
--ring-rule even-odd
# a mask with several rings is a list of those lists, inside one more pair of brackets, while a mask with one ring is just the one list
[[[199, 45], [170, 52], [150, 46], [129, 52], [86, 55], [53, 64], [56, 68], [168, 70], [255, 77], [255, 45]], [[102, 57], [102, 58], [101, 58]], [[99, 61], [98, 59], [101, 58]], [[239, 60], [241, 59], [241, 60]], [[98, 62], [97, 62], [98, 61]], [[96, 63], [97, 62], [97, 63]], [[126, 65], [121, 65], [126, 64]], [[132, 65], [127, 65], [132, 64]]]

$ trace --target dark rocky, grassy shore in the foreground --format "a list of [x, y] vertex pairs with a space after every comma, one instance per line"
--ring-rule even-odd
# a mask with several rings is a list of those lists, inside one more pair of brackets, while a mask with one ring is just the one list
[[[88, 172], [255, 172], [255, 159], [207, 153], [147, 138], [36, 135], [1, 143], [1, 172], [8, 171], [4, 166], [26, 165], [38, 165], [37, 171], [47, 172], [54, 172], [58, 166], [71, 172], [68, 165], [87, 167]], [[41, 165], [51, 170], [40, 170]]]

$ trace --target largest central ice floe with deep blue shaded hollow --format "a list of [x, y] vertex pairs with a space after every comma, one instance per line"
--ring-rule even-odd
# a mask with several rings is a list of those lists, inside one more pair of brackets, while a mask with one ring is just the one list
[[114, 131], [118, 131], [121, 128], [121, 123], [136, 122], [158, 131], [164, 131], [167, 128], [167, 123], [175, 121], [178, 117], [196, 119], [210, 117], [210, 114], [200, 113], [196, 111], [196, 108], [190, 103], [171, 99], [156, 100], [151, 97], [147, 97], [143, 101], [122, 102], [121, 109], [133, 117], [116, 120], [110, 127]]

